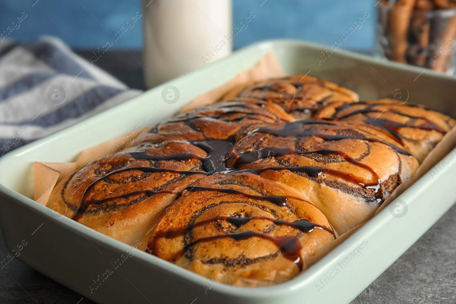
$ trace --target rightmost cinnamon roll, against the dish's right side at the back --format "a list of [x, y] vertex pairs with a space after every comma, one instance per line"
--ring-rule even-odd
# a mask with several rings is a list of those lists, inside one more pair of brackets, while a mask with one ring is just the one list
[[403, 145], [420, 162], [456, 124], [454, 119], [444, 114], [389, 98], [342, 106], [328, 105], [315, 115], [315, 119], [325, 118], [370, 124]]

